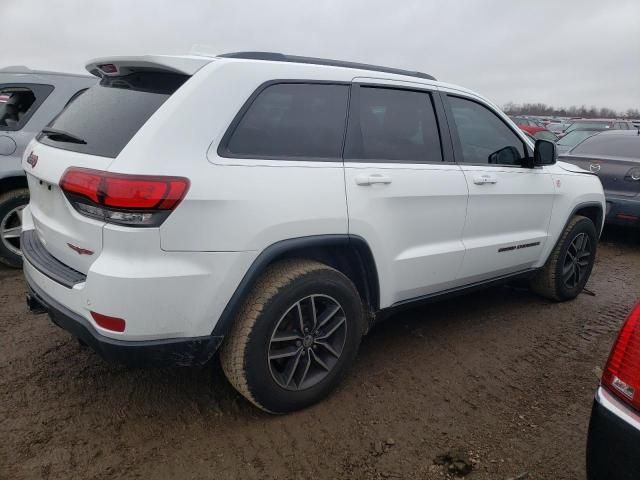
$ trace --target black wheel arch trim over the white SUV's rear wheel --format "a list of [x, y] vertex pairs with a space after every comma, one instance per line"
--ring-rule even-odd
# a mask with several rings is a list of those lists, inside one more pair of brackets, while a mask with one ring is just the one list
[[253, 261], [247, 272], [242, 277], [240, 284], [236, 288], [235, 292], [227, 302], [218, 323], [213, 330], [213, 336], [224, 337], [235, 319], [235, 315], [242, 305], [243, 300], [246, 298], [251, 288], [255, 285], [258, 277], [262, 274], [264, 269], [278, 257], [295, 250], [312, 247], [328, 247], [328, 246], [350, 246], [355, 250], [356, 255], [364, 255], [366, 258], [362, 259], [361, 263], [364, 263], [365, 275], [368, 284], [368, 294], [370, 296], [370, 307], [375, 311], [380, 305], [380, 287], [378, 283], [378, 272], [371, 253], [371, 249], [367, 242], [359, 236], [347, 235], [347, 234], [335, 234], [335, 235], [314, 235], [309, 237], [292, 238], [289, 240], [282, 240], [276, 242], [273, 245], [267, 247], [258, 255]]

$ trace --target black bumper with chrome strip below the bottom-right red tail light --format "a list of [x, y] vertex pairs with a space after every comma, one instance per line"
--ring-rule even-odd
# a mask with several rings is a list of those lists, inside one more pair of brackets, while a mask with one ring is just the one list
[[640, 416], [598, 389], [587, 440], [589, 480], [635, 480], [640, 472]]

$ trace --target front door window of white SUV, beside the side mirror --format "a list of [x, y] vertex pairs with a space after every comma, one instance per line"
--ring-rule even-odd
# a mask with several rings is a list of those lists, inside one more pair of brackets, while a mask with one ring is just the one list
[[526, 158], [523, 141], [487, 107], [449, 96], [462, 147], [462, 161], [519, 166]]

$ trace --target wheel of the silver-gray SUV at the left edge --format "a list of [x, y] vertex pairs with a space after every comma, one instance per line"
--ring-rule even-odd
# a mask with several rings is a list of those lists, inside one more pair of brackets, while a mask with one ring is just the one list
[[20, 230], [22, 209], [29, 203], [29, 190], [19, 188], [0, 195], [0, 263], [22, 267]]

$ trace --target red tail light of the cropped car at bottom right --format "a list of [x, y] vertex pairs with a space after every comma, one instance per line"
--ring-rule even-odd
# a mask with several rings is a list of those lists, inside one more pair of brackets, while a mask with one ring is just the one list
[[640, 410], [640, 303], [631, 311], [613, 345], [602, 385]]

